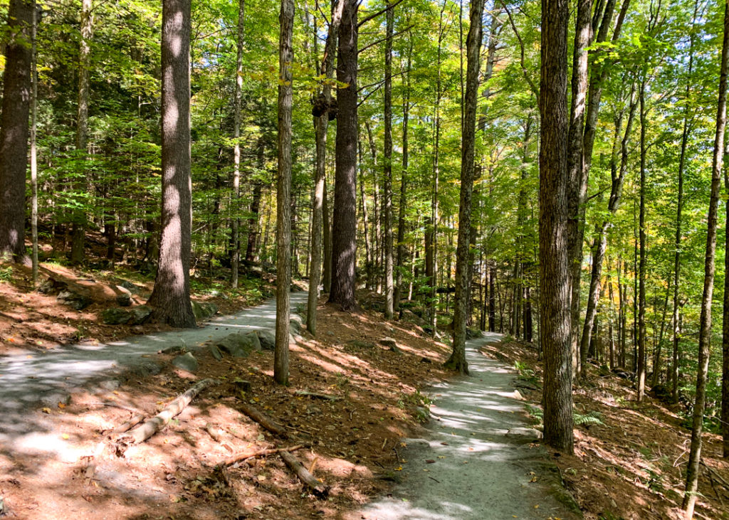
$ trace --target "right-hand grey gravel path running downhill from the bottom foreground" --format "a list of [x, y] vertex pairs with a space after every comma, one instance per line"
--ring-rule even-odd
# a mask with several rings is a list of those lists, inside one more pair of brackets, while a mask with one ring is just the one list
[[397, 452], [406, 462], [394, 472], [402, 481], [390, 497], [371, 503], [356, 518], [577, 518], [558, 500], [564, 489], [545, 450], [513, 434], [526, 426], [523, 401], [512, 387], [514, 374], [478, 351], [499, 339], [486, 334], [467, 342], [471, 375], [428, 389], [436, 406], [426, 438], [404, 439], [406, 446], [400, 444]]

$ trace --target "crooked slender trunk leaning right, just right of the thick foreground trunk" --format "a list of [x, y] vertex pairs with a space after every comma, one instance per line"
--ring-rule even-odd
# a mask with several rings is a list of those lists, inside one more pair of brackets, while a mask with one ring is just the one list
[[620, 111], [620, 114], [618, 114], [615, 119], [612, 156], [610, 157], [610, 198], [607, 203], [609, 216], [604, 218], [602, 224], [598, 227], [598, 233], [595, 237], [595, 246], [593, 247], [590, 290], [588, 293], [587, 309], [585, 310], [585, 326], [582, 328], [582, 338], [580, 340], [580, 376], [582, 379], [584, 379], [587, 375], [585, 374], [585, 370], [587, 369], [588, 342], [592, 335], [593, 324], [597, 314], [597, 304], [600, 299], [602, 261], [605, 256], [605, 251], [607, 250], [607, 229], [611, 224], [612, 216], [615, 215], [615, 212], [620, 205], [620, 197], [623, 193], [623, 179], [625, 178], [625, 172], [628, 170], [628, 141], [630, 141], [631, 129], [633, 127], [633, 119], [637, 106], [634, 98], [634, 90], [632, 89], [628, 104], [628, 122], [625, 125], [625, 134], [623, 135], [622, 140], [620, 140], [620, 165], [617, 164], [617, 154], [620, 130], [623, 126], [623, 111]]

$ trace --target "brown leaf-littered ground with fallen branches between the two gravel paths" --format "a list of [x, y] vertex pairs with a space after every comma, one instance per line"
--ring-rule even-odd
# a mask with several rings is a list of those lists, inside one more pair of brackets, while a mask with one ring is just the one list
[[[289, 387], [273, 384], [273, 352], [222, 362], [201, 354], [194, 375], [160, 354], [152, 356], [163, 364], [160, 374], [131, 374], [115, 390], [74, 393], [69, 405], [45, 409], [58, 450], [43, 460], [0, 456], [5, 503], [23, 519], [359, 518], [354, 511], [406, 463], [397, 443], [419, 428], [427, 401], [418, 388], [446, 376], [440, 363], [448, 347], [417, 326], [324, 304], [318, 328], [316, 339], [304, 332], [292, 344]], [[397, 340], [396, 350], [378, 343], [385, 336]], [[203, 391], [146, 443], [123, 457], [114, 453], [105, 432], [139, 411], [154, 414], [206, 377], [223, 384]], [[241, 402], [285, 425], [289, 438], [260, 428], [241, 413]], [[221, 433], [219, 441], [207, 425]], [[297, 458], [330, 486], [326, 500], [313, 497], [276, 455], [215, 468], [233, 453], [295, 444], [305, 446]]]

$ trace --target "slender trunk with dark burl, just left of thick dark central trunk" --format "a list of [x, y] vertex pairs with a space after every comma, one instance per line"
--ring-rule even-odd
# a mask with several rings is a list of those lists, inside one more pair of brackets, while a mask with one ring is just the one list
[[[332, 8], [332, 21], [327, 32], [327, 43], [324, 44], [324, 59], [321, 60], [320, 74], [327, 80], [334, 75], [334, 52], [337, 48], [337, 32], [342, 17], [343, 2]], [[316, 26], [314, 30], [314, 49], [316, 50]], [[332, 86], [325, 81], [320, 99], [325, 107], [323, 113], [314, 115], [316, 134], [316, 178], [314, 180], [313, 216], [311, 223], [311, 269], [309, 272], [308, 307], [306, 311], [306, 328], [316, 336], [316, 304], [319, 302], [319, 283], [321, 282], [321, 237], [324, 229], [324, 184], [327, 182], [327, 127], [329, 126], [330, 105], [332, 103]]]

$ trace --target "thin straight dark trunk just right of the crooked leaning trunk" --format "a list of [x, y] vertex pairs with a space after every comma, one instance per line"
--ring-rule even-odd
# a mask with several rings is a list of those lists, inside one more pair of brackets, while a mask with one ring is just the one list
[[646, 269], [646, 244], [645, 244], [645, 159], [646, 159], [646, 109], [645, 109], [645, 75], [640, 84], [640, 216], [639, 216], [639, 240], [640, 240], [640, 264], [638, 268], [638, 372], [636, 384], [638, 386], [638, 401], [643, 401], [645, 393], [645, 269]]

